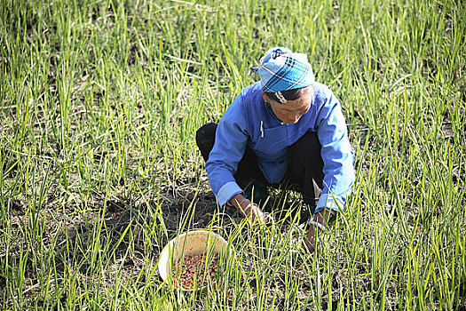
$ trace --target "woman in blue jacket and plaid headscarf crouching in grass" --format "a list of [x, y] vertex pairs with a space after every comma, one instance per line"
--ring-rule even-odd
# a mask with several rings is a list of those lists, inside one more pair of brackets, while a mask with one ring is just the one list
[[313, 213], [304, 239], [313, 251], [354, 181], [341, 106], [328, 86], [315, 82], [305, 54], [272, 48], [257, 73], [260, 82], [233, 100], [218, 125], [202, 126], [196, 142], [218, 203], [252, 219], [264, 220], [251, 200], [263, 199], [265, 187], [297, 185]]

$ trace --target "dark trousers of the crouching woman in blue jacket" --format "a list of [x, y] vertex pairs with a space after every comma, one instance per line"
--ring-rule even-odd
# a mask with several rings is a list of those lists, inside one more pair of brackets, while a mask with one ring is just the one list
[[[217, 124], [209, 123], [203, 125], [196, 132], [197, 147], [205, 161], [209, 159], [209, 153], [214, 147], [216, 131]], [[320, 156], [321, 148], [315, 132], [304, 134], [301, 139], [288, 148], [288, 170], [280, 184], [276, 185], [270, 184], [265, 179], [264, 174], [259, 169], [256, 154], [251, 148], [246, 147], [244, 156], [233, 177], [238, 186], [245, 190], [245, 193], [247, 192], [246, 187], [250, 185], [260, 187], [261, 184], [265, 187], [281, 187], [300, 191], [304, 203], [309, 204], [313, 211], [323, 188], [324, 162]]]

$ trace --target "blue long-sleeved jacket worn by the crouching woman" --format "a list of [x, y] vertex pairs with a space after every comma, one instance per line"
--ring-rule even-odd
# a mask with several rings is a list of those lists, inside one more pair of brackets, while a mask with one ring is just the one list
[[313, 86], [311, 108], [291, 125], [281, 122], [265, 103], [260, 82], [249, 85], [233, 100], [218, 124], [206, 163], [210, 187], [219, 204], [242, 192], [233, 174], [246, 146], [256, 153], [265, 179], [279, 183], [288, 168], [288, 147], [310, 131], [317, 132], [324, 161], [324, 189], [315, 212], [325, 207], [338, 211], [343, 206], [354, 182], [354, 155], [339, 101], [328, 86]]

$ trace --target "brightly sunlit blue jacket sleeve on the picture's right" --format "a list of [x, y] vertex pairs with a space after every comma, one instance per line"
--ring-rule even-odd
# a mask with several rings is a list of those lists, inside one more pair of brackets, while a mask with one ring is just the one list
[[348, 140], [348, 130], [342, 108], [333, 92], [326, 92], [327, 100], [317, 119], [317, 136], [324, 162], [323, 191], [315, 212], [343, 207], [354, 183], [354, 153]]

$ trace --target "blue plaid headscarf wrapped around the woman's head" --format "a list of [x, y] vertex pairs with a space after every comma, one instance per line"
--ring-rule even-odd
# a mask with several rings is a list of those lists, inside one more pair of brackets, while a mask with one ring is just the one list
[[261, 78], [264, 92], [299, 89], [314, 82], [307, 55], [294, 53], [283, 47], [272, 48], [265, 52], [257, 73]]

